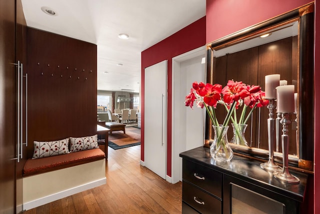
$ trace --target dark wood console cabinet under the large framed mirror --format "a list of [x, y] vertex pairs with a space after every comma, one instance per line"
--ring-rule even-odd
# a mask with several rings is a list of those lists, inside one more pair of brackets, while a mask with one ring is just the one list
[[198, 147], [182, 157], [182, 213], [303, 213], [307, 174], [290, 170], [299, 184], [281, 182], [260, 168], [261, 161], [234, 155], [214, 161]]

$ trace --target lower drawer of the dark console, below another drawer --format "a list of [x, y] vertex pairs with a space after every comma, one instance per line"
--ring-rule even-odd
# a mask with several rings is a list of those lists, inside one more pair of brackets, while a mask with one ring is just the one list
[[200, 213], [221, 213], [221, 200], [182, 181], [182, 200]]

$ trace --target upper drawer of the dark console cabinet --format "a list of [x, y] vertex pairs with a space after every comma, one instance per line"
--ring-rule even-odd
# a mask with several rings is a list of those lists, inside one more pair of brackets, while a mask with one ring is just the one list
[[221, 198], [222, 174], [220, 172], [183, 159], [182, 178]]

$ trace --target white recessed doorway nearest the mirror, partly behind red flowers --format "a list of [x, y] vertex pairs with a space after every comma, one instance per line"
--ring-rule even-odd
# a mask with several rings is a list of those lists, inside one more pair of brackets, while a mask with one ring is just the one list
[[172, 183], [182, 178], [179, 153], [204, 143], [204, 109], [184, 106], [192, 83], [205, 82], [205, 47], [172, 58]]

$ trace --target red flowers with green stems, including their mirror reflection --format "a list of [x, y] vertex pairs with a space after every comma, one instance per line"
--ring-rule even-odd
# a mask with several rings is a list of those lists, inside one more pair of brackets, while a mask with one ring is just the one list
[[[264, 99], [264, 92], [261, 91], [259, 86], [249, 86], [243, 84], [242, 82], [234, 82], [233, 80], [229, 80], [223, 89], [220, 84], [212, 85], [209, 83], [204, 84], [202, 82], [194, 82], [192, 84], [190, 93], [185, 97], [185, 106], [190, 106], [192, 108], [194, 102], [196, 103], [197, 107], [205, 108], [212, 122], [213, 128], [227, 127], [229, 121], [231, 120], [235, 129], [235, 133], [237, 134], [240, 134], [239, 124], [246, 124], [256, 107], [262, 107], [268, 104], [268, 100]], [[215, 115], [215, 108], [217, 104], [223, 105], [227, 111], [227, 115], [222, 124], [218, 122]], [[237, 120], [235, 110], [240, 106], [243, 106], [242, 112], [239, 120]], [[251, 110], [245, 116], [247, 107], [250, 107]], [[218, 143], [223, 138], [222, 133], [224, 132], [225, 128], [219, 129], [220, 131], [217, 131], [217, 133], [215, 130], [215, 140]]]

